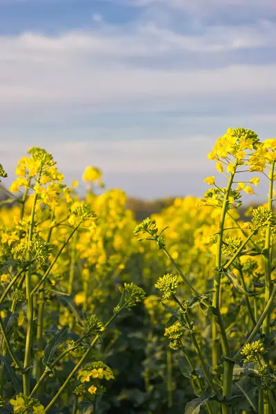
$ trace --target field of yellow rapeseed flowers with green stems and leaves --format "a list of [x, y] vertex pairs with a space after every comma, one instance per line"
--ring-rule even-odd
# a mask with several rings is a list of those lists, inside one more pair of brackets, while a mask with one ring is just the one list
[[19, 160], [0, 209], [1, 413], [276, 414], [276, 139], [229, 128], [208, 158], [201, 199], [141, 223], [123, 191], [98, 195], [97, 168], [80, 197], [46, 150]]

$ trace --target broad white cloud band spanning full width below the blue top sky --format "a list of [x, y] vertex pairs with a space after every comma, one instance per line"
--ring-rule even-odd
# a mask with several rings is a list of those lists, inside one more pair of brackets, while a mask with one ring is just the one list
[[261, 26], [262, 32], [246, 26], [238, 32], [217, 26], [200, 37], [179, 35], [154, 25], [132, 29], [103, 26], [96, 32], [68, 32], [58, 37], [2, 35], [0, 108], [41, 110], [89, 104], [97, 110], [131, 105], [168, 109], [175, 99], [275, 92], [276, 65], [168, 70], [166, 65], [150, 68], [146, 63], [143, 67], [129, 61], [160, 56], [170, 59], [172, 52], [177, 59], [187, 51], [215, 53], [274, 43], [275, 26], [266, 22]]

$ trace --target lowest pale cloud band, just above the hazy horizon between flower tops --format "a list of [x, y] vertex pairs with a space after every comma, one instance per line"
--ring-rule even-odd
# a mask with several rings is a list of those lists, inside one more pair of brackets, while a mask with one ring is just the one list
[[[170, 173], [208, 170], [212, 163], [206, 155], [212, 145], [212, 137], [201, 135], [188, 139], [48, 142], [46, 150], [54, 155], [65, 175], [80, 175], [88, 165], [98, 166], [107, 174]], [[23, 142], [16, 146], [8, 141], [1, 144], [1, 163], [10, 175], [28, 147]]]

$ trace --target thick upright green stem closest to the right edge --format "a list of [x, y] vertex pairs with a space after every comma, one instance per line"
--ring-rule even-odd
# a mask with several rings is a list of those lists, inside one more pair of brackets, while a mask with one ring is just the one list
[[[271, 170], [269, 175], [269, 192], [268, 192], [268, 210], [273, 210], [273, 178], [274, 178], [274, 167], [275, 161], [271, 164]], [[267, 304], [272, 290], [271, 283], [271, 256], [272, 256], [272, 246], [271, 246], [271, 227], [268, 225], [266, 228], [266, 241], [265, 241], [265, 255], [264, 255], [264, 271], [265, 271], [265, 303]], [[263, 333], [268, 336], [270, 332], [270, 319], [271, 313], [268, 311], [266, 319], [264, 319]]]

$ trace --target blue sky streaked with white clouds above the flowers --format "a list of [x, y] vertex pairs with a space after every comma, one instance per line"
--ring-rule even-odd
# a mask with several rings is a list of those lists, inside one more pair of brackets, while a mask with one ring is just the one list
[[0, 161], [30, 146], [148, 199], [197, 195], [228, 126], [276, 135], [275, 0], [0, 0]]

